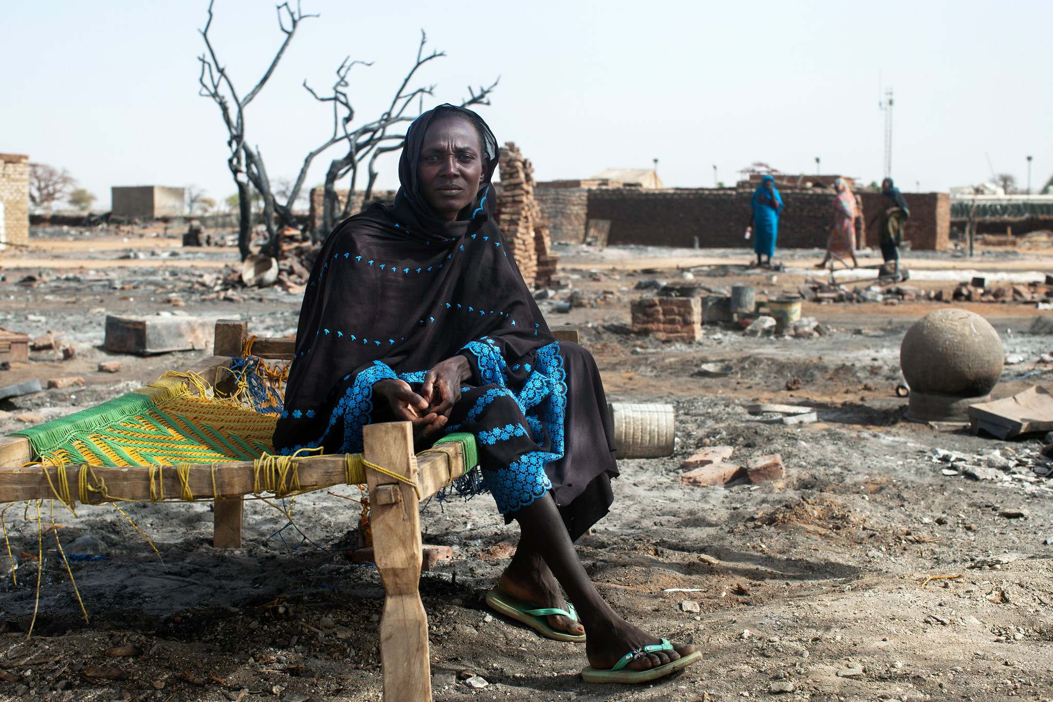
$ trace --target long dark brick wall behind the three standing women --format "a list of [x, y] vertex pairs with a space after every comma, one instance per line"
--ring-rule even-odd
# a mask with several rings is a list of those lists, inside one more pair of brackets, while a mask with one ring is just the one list
[[[779, 246], [826, 247], [827, 225], [833, 208], [830, 190], [783, 190], [779, 217]], [[863, 195], [867, 219], [879, 206], [880, 196]], [[587, 219], [611, 220], [608, 243], [692, 247], [695, 237], [702, 248], [752, 246], [743, 239], [750, 223], [753, 193], [732, 188], [674, 190], [590, 189]], [[950, 199], [947, 194], [908, 194], [911, 208], [908, 238], [914, 248], [946, 248], [950, 234]], [[876, 224], [868, 233], [876, 245]], [[871, 239], [871, 234], [873, 239]]]

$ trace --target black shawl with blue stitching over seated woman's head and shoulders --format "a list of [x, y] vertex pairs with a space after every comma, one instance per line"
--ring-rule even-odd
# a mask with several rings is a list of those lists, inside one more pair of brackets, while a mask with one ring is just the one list
[[[436, 217], [417, 184], [429, 111], [406, 133], [395, 204], [374, 204], [341, 223], [315, 261], [300, 310], [296, 357], [274, 445], [290, 453], [323, 445], [361, 450], [372, 384], [413, 382], [439, 361], [486, 338], [500, 352], [509, 387], [522, 385], [537, 349], [554, 341], [512, 252], [493, 220], [497, 140], [474, 113], [488, 159], [479, 190], [457, 221]], [[474, 119], [473, 119], [474, 118]]]

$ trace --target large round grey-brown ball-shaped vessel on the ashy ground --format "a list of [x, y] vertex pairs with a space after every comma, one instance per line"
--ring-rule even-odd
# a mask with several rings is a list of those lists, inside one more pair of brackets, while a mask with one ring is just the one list
[[937, 309], [907, 330], [899, 367], [911, 394], [974, 398], [991, 393], [1001, 377], [1001, 338], [976, 313]]

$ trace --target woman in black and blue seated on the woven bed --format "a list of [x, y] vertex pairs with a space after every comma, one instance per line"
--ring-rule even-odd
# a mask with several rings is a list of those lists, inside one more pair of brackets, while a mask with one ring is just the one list
[[588, 635], [587, 679], [659, 677], [699, 655], [615, 614], [574, 550], [613, 501], [611, 420], [595, 361], [555, 341], [494, 222], [497, 159], [470, 109], [441, 105], [410, 126], [395, 204], [343, 222], [315, 262], [274, 445], [357, 453], [364, 424], [393, 420], [413, 423], [418, 450], [472, 433], [521, 529], [488, 601], [551, 638]]

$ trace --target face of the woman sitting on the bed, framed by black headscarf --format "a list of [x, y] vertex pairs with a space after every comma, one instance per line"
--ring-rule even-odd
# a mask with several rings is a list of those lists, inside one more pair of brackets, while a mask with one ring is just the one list
[[428, 125], [420, 147], [417, 182], [440, 219], [453, 222], [479, 192], [482, 144], [471, 122], [445, 117]]

